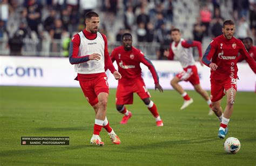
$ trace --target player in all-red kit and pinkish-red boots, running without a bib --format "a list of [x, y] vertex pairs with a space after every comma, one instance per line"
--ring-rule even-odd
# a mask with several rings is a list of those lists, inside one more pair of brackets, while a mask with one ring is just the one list
[[122, 75], [122, 78], [118, 80], [116, 93], [117, 111], [124, 114], [120, 124], [126, 124], [128, 119], [131, 118], [132, 113], [126, 110], [124, 105], [133, 103], [133, 93], [136, 92], [147, 106], [147, 109], [156, 118], [157, 126], [163, 126], [164, 124], [158, 114], [157, 107], [150, 100], [150, 93], [147, 91], [143, 81], [140, 63], [145, 64], [151, 71], [155, 89], [163, 92], [156, 69], [139, 49], [132, 46], [132, 35], [130, 33], [123, 34], [122, 42], [123, 46], [114, 48], [111, 53], [111, 60], [112, 62], [117, 62], [118, 71]]

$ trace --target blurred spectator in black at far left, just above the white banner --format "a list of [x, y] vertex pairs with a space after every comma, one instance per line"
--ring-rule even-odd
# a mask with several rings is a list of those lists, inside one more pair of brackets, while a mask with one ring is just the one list
[[17, 31], [14, 37], [9, 39], [10, 55], [22, 55], [23, 35], [23, 31]]

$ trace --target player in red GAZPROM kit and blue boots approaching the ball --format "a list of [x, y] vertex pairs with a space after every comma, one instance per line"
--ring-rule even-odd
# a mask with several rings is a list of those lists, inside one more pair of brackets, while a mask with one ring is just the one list
[[[228, 122], [233, 113], [233, 104], [237, 92], [237, 59], [238, 53], [247, 61], [254, 73], [256, 63], [245, 49], [242, 41], [233, 37], [234, 22], [226, 20], [223, 23], [223, 35], [213, 39], [203, 56], [203, 63], [211, 68], [211, 100], [212, 110], [220, 120], [218, 137], [225, 138]], [[227, 94], [225, 111], [220, 107], [221, 98]]]

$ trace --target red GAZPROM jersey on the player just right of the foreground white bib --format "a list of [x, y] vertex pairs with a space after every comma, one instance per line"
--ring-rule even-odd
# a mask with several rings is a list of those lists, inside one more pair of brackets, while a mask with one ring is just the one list
[[117, 61], [118, 72], [122, 75], [119, 83], [126, 83], [142, 77], [142, 68], [140, 63], [145, 64], [152, 73], [154, 83], [159, 83], [157, 71], [152, 62], [137, 48], [132, 47], [130, 51], [126, 51], [124, 46], [119, 46], [113, 49], [111, 60]]

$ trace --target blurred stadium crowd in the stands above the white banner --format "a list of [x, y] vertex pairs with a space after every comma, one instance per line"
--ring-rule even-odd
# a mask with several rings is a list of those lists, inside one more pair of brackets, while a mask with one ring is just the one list
[[[165, 48], [171, 42], [170, 30], [177, 27], [174, 13], [177, 0], [2, 0], [0, 1], [0, 55], [10, 50], [10, 55], [68, 56], [69, 42], [73, 34], [85, 27], [86, 12], [97, 11], [100, 15], [100, 32], [107, 35], [109, 45], [119, 44], [123, 33], [130, 32], [134, 45], [159, 46], [149, 53], [153, 59], [166, 59]], [[239, 39], [248, 36], [256, 38], [256, 3], [252, 0], [181, 0], [184, 8], [189, 3], [197, 3], [200, 8], [193, 21], [192, 35], [188, 38], [203, 42], [204, 38], [215, 38], [222, 34], [225, 19], [235, 21]], [[232, 4], [230, 16], [222, 15], [221, 5]], [[190, 13], [191, 11], [187, 11]], [[194, 11], [195, 12], [195, 11]], [[188, 25], [189, 26], [189, 25]], [[186, 26], [178, 27], [186, 31]], [[186, 36], [185, 36], [186, 37]], [[31, 47], [35, 46], [35, 47]], [[153, 46], [152, 45], [152, 46]], [[152, 47], [150, 45], [150, 47]], [[110, 51], [111, 51], [110, 46]], [[23, 51], [22, 51], [23, 49]], [[52, 54], [56, 53], [56, 54]]]

